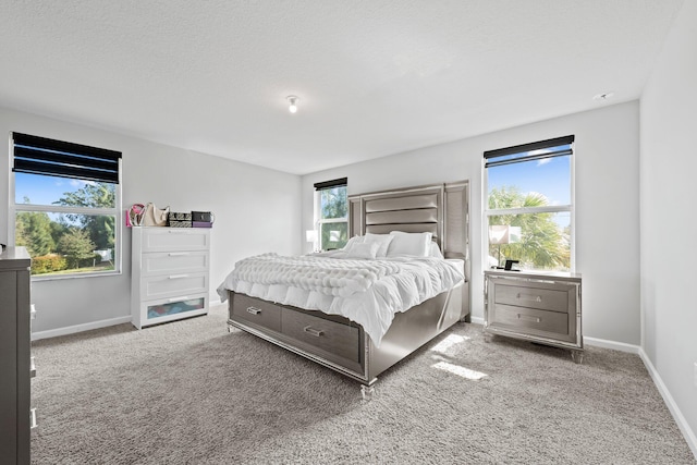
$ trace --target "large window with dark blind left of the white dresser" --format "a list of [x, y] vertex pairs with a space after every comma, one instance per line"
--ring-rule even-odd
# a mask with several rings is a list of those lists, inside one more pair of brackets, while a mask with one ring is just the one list
[[9, 235], [32, 274], [119, 272], [121, 152], [21, 133], [11, 147]]

